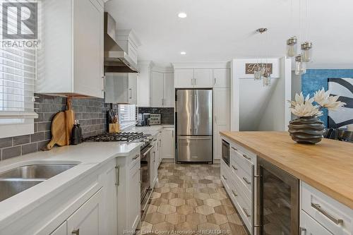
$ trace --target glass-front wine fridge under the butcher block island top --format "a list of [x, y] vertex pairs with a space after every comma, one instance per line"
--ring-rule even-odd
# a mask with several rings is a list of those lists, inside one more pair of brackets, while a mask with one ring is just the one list
[[299, 179], [258, 157], [253, 234], [299, 233]]

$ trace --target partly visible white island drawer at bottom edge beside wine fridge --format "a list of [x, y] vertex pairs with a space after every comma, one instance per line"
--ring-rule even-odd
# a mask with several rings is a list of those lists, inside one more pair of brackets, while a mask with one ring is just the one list
[[300, 212], [300, 228], [301, 233], [299, 235], [333, 235], [303, 210]]

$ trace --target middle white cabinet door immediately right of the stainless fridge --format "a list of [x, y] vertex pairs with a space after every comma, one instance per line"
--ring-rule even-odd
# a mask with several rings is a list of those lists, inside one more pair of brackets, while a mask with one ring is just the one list
[[229, 88], [213, 89], [213, 109], [215, 125], [228, 125], [230, 116], [230, 92]]

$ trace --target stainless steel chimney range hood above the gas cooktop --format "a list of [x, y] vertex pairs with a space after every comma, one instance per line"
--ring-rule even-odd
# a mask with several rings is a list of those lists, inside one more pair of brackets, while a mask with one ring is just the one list
[[104, 73], [139, 73], [137, 64], [116, 43], [116, 22], [104, 12]]

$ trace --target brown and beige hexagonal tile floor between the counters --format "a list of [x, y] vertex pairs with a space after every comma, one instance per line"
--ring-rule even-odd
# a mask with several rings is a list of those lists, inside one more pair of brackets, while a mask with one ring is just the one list
[[248, 234], [219, 164], [163, 163], [140, 234]]

